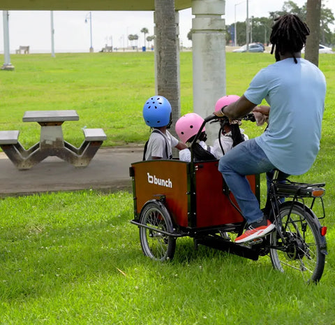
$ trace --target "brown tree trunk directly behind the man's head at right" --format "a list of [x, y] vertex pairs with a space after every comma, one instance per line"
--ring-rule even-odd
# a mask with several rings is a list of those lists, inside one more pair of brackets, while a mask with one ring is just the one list
[[306, 24], [310, 29], [310, 34], [307, 36], [305, 59], [318, 66], [321, 0], [307, 0], [306, 11]]

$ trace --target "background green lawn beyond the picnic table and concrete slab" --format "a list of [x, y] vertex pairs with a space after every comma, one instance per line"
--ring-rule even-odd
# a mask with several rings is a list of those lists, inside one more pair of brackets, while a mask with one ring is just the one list
[[[260, 59], [261, 58], [261, 59]], [[0, 55], [0, 60], [3, 55]], [[77, 110], [78, 122], [65, 122], [64, 138], [79, 146], [83, 127], [102, 127], [103, 146], [144, 143], [149, 128], [142, 120], [144, 101], [154, 94], [154, 53], [82, 53], [12, 55], [14, 71], [0, 71], [0, 130], [20, 130], [20, 142], [30, 147], [39, 138], [37, 123], [22, 122], [26, 110]], [[243, 94], [260, 68], [274, 62], [268, 53], [227, 53], [227, 94]], [[327, 81], [325, 124], [332, 123], [335, 101], [335, 56], [321, 55]], [[192, 53], [181, 52], [181, 113], [193, 110]], [[329, 118], [329, 122], [328, 122]], [[247, 134], [258, 135], [254, 124]]]

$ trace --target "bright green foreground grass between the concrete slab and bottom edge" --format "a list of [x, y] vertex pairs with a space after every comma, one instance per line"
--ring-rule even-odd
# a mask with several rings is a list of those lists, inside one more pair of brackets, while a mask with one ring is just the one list
[[[0, 201], [0, 324], [335, 324], [334, 231], [318, 285], [179, 238], [144, 257], [132, 195], [94, 191]], [[326, 223], [332, 215], [328, 216]]]

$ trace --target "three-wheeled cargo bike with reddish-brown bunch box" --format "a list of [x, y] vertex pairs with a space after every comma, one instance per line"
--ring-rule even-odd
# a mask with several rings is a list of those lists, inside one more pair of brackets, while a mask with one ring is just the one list
[[[218, 171], [218, 160], [193, 161], [193, 145], [209, 121], [217, 122], [218, 117], [204, 119], [191, 145], [191, 162], [172, 159], [131, 164], [131, 223], [139, 227], [144, 255], [160, 261], [172, 259], [177, 238], [188, 236], [195, 246], [213, 247], [254, 261], [269, 255], [275, 269], [296, 270], [306, 282], [318, 282], [327, 255], [327, 227], [320, 224], [325, 218], [325, 183], [290, 182], [275, 171], [266, 212], [276, 229], [264, 238], [234, 243], [246, 224]], [[259, 175], [248, 175], [247, 179], [260, 201]], [[313, 211], [316, 203], [321, 217]]]

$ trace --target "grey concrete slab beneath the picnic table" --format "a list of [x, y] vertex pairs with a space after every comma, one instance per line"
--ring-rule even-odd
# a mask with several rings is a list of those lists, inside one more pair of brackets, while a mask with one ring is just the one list
[[18, 171], [0, 152], [0, 196], [77, 189], [131, 190], [129, 167], [142, 160], [142, 155], [140, 146], [102, 147], [86, 168], [48, 157], [27, 171]]

